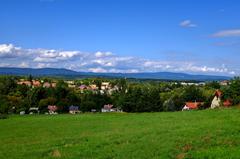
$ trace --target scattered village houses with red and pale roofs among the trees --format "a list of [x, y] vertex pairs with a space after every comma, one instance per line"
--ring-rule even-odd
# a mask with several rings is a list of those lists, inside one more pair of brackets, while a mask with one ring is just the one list
[[[87, 82], [87, 84], [84, 84], [84, 82], [82, 81], [74, 81], [74, 80], [65, 80], [63, 81], [68, 89], [72, 89], [75, 92], [78, 92], [80, 94], [85, 94], [88, 92], [91, 93], [100, 93], [100, 94], [107, 94], [109, 96], [111, 96], [113, 93], [118, 92], [119, 89], [119, 85], [117, 85], [116, 83], [114, 84], [114, 82], [112, 82], [111, 80], [101, 80], [100, 82], [95, 82], [94, 80], [90, 80], [91, 82]], [[222, 87], [226, 87], [229, 85], [230, 81], [220, 81], [218, 84]], [[26, 80], [26, 79], [19, 79], [17, 81], [18, 85], [25, 85], [29, 88], [56, 88], [57, 86], [57, 80], [51, 80], [50, 81], [44, 81], [44, 80], [38, 80], [38, 79], [32, 79], [32, 80]], [[196, 87], [203, 87], [206, 85], [205, 82], [198, 82], [198, 83], [192, 83], [192, 82], [173, 82], [173, 84], [175, 85], [180, 85], [182, 87], [188, 87], [188, 86], [196, 86]], [[126, 89], [125, 92], [127, 92], [128, 90]], [[211, 101], [211, 105], [209, 108], [211, 109], [216, 109], [216, 108], [220, 108], [221, 106], [223, 107], [230, 107], [232, 106], [232, 101], [231, 99], [222, 99], [222, 95], [223, 92], [220, 91], [219, 89], [216, 89], [213, 96], [212, 96], [212, 101]], [[204, 102], [203, 101], [185, 101], [185, 104], [181, 105], [180, 108], [182, 111], [186, 111], [186, 110], [197, 110], [200, 109], [203, 105]], [[70, 114], [78, 114], [81, 113], [82, 111], [80, 110], [80, 105], [69, 105], [67, 106], [67, 110], [68, 113]], [[58, 114], [58, 109], [59, 107], [57, 105], [47, 105], [47, 109], [44, 112], [44, 114]], [[25, 110], [25, 111], [20, 111], [19, 114], [20, 115], [24, 115], [26, 114], [26, 112], [28, 112], [28, 114], [39, 114], [40, 110], [38, 107], [30, 107], [29, 110]], [[105, 103], [104, 105], [102, 105], [100, 110], [97, 109], [91, 109], [90, 112], [102, 112], [102, 113], [106, 113], [106, 112], [123, 112], [123, 110], [118, 107], [113, 105], [113, 103]]]

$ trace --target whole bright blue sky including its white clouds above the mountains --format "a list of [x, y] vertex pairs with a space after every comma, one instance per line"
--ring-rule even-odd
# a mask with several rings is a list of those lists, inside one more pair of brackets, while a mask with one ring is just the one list
[[0, 67], [240, 75], [239, 0], [1, 0]]

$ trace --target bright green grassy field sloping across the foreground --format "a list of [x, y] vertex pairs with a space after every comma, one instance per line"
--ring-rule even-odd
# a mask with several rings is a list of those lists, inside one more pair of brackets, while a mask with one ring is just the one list
[[10, 116], [0, 158], [240, 158], [240, 109]]

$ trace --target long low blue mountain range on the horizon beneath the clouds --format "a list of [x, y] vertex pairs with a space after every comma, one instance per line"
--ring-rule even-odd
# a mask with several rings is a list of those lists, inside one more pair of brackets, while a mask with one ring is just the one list
[[1, 75], [33, 75], [33, 76], [64, 76], [64, 77], [108, 77], [108, 78], [136, 78], [155, 80], [194, 80], [194, 81], [221, 81], [231, 77], [214, 75], [192, 75], [186, 73], [154, 72], [154, 73], [93, 73], [76, 72], [59, 68], [13, 68], [0, 67]]

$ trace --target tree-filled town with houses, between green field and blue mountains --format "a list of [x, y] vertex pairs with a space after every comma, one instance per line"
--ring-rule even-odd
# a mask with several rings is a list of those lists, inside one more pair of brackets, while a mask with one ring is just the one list
[[1, 76], [1, 113], [160, 112], [230, 107], [239, 78], [212, 82]]

